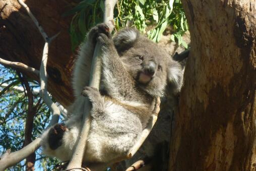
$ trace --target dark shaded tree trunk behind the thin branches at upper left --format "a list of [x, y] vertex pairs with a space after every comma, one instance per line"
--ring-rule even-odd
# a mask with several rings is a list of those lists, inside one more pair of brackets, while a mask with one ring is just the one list
[[[63, 18], [61, 15], [70, 10], [74, 2], [75, 0], [25, 1], [47, 35], [53, 36], [61, 31], [49, 49], [47, 74], [48, 91], [65, 107], [73, 101], [70, 78], [74, 56], [68, 33], [71, 17]], [[0, 57], [39, 69], [43, 46], [43, 38], [18, 1], [1, 0]], [[35, 75], [27, 74], [39, 80]]]

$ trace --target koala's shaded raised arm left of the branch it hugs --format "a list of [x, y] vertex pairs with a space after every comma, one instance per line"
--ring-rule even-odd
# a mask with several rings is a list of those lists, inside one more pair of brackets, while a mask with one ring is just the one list
[[93, 27], [87, 34], [86, 41], [81, 44], [73, 77], [73, 89], [76, 97], [79, 97], [83, 88], [89, 84], [92, 57], [99, 33], [107, 34], [105, 25], [99, 24]]

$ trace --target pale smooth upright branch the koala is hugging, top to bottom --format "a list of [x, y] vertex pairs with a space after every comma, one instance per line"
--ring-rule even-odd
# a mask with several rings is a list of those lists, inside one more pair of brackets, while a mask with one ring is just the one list
[[[104, 10], [104, 23], [107, 24], [109, 27], [110, 32], [112, 32], [114, 26], [113, 26], [113, 16], [114, 16], [114, 6], [116, 4], [117, 0], [106, 0], [105, 1], [105, 10]], [[91, 68], [91, 73], [90, 73], [90, 81], [89, 81], [89, 86], [97, 88], [99, 90], [99, 85], [100, 85], [100, 75], [101, 75], [101, 58], [99, 57], [100, 52], [100, 45], [97, 42], [96, 47], [94, 49], [94, 54], [93, 54], [93, 60], [92, 60], [92, 68]], [[89, 130], [91, 127], [91, 116], [89, 115], [91, 111], [91, 106], [88, 98], [86, 98], [85, 101], [85, 111], [83, 115], [83, 122], [82, 122], [82, 129], [80, 132], [80, 137], [78, 138], [76, 145], [75, 145], [75, 150], [73, 152], [73, 156], [70, 160], [70, 163], [67, 167], [67, 170], [72, 169], [73, 170], [79, 170], [75, 169], [78, 167], [81, 167], [84, 153], [87, 148], [87, 137], [89, 134]], [[86, 157], [86, 156], [85, 156]]]

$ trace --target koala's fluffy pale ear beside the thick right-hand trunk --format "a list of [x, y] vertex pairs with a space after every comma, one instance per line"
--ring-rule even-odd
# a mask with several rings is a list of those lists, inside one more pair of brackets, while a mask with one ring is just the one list
[[180, 92], [183, 84], [183, 73], [184, 68], [177, 61], [169, 61], [167, 68], [167, 78], [168, 78], [168, 89], [171, 92], [177, 94]]

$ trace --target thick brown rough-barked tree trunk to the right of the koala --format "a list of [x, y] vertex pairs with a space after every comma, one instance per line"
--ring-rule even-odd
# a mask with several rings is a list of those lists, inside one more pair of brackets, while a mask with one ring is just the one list
[[183, 0], [191, 35], [169, 170], [255, 170], [255, 0]]

